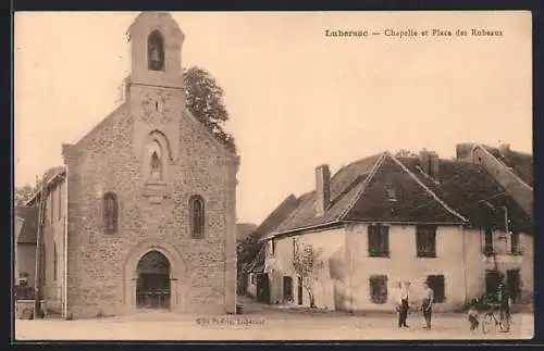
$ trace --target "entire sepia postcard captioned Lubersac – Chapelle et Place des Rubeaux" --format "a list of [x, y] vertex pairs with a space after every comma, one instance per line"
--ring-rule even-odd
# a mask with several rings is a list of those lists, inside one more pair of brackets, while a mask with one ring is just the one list
[[14, 337], [534, 335], [526, 11], [17, 12]]

